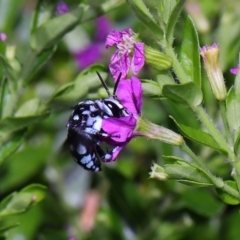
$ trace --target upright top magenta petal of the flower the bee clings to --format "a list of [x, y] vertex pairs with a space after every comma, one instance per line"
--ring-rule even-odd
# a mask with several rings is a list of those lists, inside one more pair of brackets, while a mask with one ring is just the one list
[[117, 88], [117, 97], [127, 110], [136, 115], [142, 109], [142, 83], [134, 76], [130, 80], [121, 80]]

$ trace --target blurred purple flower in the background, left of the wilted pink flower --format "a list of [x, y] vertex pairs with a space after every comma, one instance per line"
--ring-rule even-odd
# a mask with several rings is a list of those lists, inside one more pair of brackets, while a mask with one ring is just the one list
[[80, 69], [97, 62], [103, 56], [104, 42], [110, 29], [109, 20], [104, 16], [97, 18], [96, 28], [97, 32], [93, 43], [74, 53], [74, 58]]

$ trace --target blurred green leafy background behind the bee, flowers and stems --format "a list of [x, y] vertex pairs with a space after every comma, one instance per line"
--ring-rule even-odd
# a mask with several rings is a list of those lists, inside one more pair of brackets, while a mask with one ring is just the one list
[[[76, 8], [78, 17], [80, 1], [66, 2]], [[103, 44], [103, 55], [96, 61], [102, 65], [87, 71], [77, 65], [72, 46], [94, 41], [95, 17], [101, 14], [96, 10], [100, 3], [86, 2], [90, 10], [81, 24], [75, 19], [58, 20], [49, 25], [49, 36], [58, 31], [56, 38], [47, 38], [41, 29], [32, 33], [55, 17], [57, 1], [0, 1], [0, 29], [8, 36], [0, 42], [0, 239], [240, 239], [239, 207], [224, 204], [213, 189], [149, 179], [152, 162], [163, 165], [162, 155], [182, 156], [178, 148], [137, 138], [115, 163], [103, 164], [103, 171], [96, 174], [72, 160], [65, 143], [71, 107], [79, 100], [103, 96], [95, 71], [107, 77], [104, 72], [111, 52]], [[148, 1], [155, 14], [157, 2]], [[112, 28], [131, 27], [148, 45], [157, 46], [127, 3], [119, 1], [115, 7], [104, 13]], [[239, 7], [236, 0], [186, 1], [174, 33], [175, 50], [180, 51], [183, 24], [190, 14], [200, 45], [219, 44], [229, 86], [234, 81], [229, 68], [237, 64], [240, 46]], [[67, 31], [64, 24], [75, 27], [71, 37], [62, 37]], [[8, 58], [3, 57], [6, 54]], [[146, 67], [140, 77], [150, 79], [156, 73]], [[110, 79], [108, 84], [112, 84]], [[217, 119], [207, 81], [203, 89], [206, 108]], [[145, 91], [144, 117], [175, 131], [169, 115], [198, 127], [193, 118], [187, 119], [187, 108], [158, 100]], [[14, 117], [4, 118], [11, 112]], [[223, 157], [191, 144], [217, 176], [227, 179], [231, 169]]]

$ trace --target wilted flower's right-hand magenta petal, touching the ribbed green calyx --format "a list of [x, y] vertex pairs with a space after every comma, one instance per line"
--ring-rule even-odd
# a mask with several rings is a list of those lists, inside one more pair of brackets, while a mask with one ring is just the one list
[[144, 43], [135, 43], [134, 44], [134, 54], [131, 64], [131, 69], [134, 75], [137, 75], [142, 69], [145, 63], [144, 57]]

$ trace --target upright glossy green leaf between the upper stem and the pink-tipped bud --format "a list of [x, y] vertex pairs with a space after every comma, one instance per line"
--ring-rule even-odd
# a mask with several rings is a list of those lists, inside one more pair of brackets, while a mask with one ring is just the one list
[[201, 88], [201, 64], [199, 53], [199, 40], [192, 19], [188, 16], [183, 32], [181, 45], [180, 63], [184, 69], [188, 81], [195, 82]]

